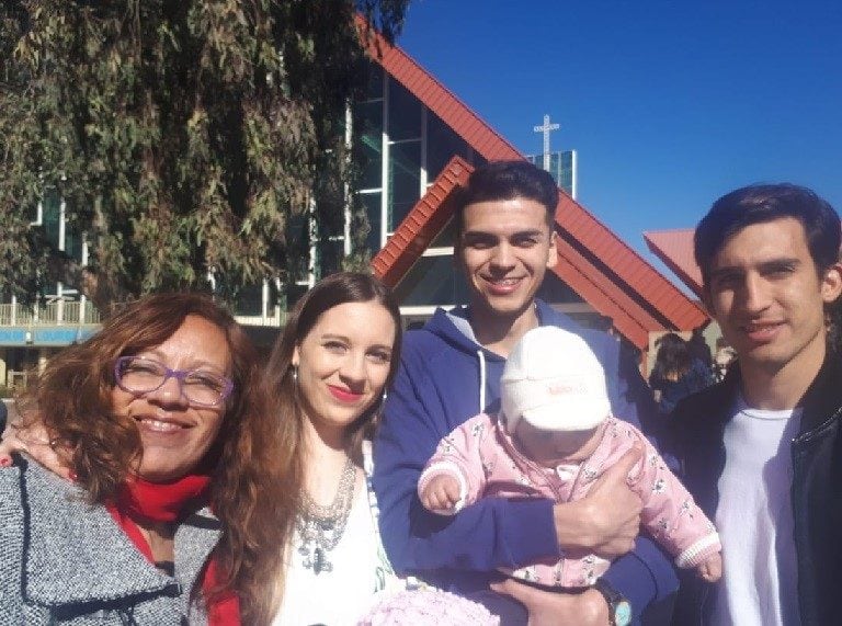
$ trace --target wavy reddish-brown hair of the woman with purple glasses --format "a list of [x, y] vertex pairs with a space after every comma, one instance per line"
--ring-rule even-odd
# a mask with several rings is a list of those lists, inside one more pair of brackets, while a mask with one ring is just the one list
[[272, 610], [268, 581], [280, 567], [283, 538], [272, 516], [288, 504], [266, 505], [268, 485], [282, 465], [276, 423], [266, 411], [254, 348], [230, 314], [200, 294], [158, 294], [127, 305], [94, 337], [50, 358], [22, 398], [22, 413], [29, 416], [24, 428], [30, 421], [43, 423], [57, 447], [68, 451], [90, 501], [110, 501], [143, 454], [134, 420], [112, 410], [114, 362], [160, 345], [190, 315], [224, 332], [232, 363], [234, 391], [204, 460], [212, 468], [210, 501], [224, 528], [215, 550], [219, 582], [240, 596], [243, 623], [266, 622]]

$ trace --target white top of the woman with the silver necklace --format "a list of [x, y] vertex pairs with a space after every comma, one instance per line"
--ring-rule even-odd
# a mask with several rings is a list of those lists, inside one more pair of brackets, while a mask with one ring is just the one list
[[377, 580], [384, 572], [374, 524], [366, 488], [357, 481], [345, 530], [337, 547], [327, 555], [331, 571], [317, 574], [304, 567], [296, 533], [288, 556], [283, 604], [272, 626], [356, 624], [374, 602], [375, 590], [383, 585]]

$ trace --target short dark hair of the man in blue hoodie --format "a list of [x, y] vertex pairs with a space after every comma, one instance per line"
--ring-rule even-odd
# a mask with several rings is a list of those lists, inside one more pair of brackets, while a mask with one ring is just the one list
[[462, 232], [465, 207], [478, 202], [534, 200], [547, 209], [547, 225], [553, 228], [558, 204], [558, 185], [549, 172], [528, 161], [491, 161], [479, 166], [468, 178], [468, 184], [455, 196], [456, 231]]

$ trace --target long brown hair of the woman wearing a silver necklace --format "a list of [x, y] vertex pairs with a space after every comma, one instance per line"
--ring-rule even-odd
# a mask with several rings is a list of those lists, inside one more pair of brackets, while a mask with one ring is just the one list
[[[275, 523], [284, 536], [278, 544], [288, 548], [295, 530], [295, 519], [301, 505], [301, 494], [305, 490], [307, 448], [305, 442], [305, 416], [298, 397], [298, 389], [293, 376], [293, 354], [300, 345], [319, 317], [346, 303], [378, 303], [389, 311], [395, 321], [395, 338], [391, 350], [389, 374], [384, 388], [388, 388], [400, 358], [400, 309], [394, 300], [388, 287], [374, 276], [354, 272], [340, 272], [321, 280], [307, 292], [298, 301], [287, 318], [284, 332], [275, 342], [266, 368], [266, 396], [272, 399], [273, 413], [280, 426], [280, 441], [276, 454], [285, 464], [280, 471], [282, 481], [276, 488], [284, 493], [291, 508], [276, 512]], [[361, 456], [361, 443], [367, 431], [374, 426], [380, 410], [382, 398], [378, 398], [354, 423], [349, 426], [346, 445], [352, 458], [357, 462]], [[278, 570], [274, 602], [280, 606], [283, 601], [285, 572]]]

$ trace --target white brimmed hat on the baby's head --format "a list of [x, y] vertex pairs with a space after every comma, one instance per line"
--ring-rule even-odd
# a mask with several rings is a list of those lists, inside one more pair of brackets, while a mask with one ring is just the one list
[[509, 433], [523, 419], [545, 431], [587, 431], [611, 413], [605, 372], [578, 334], [554, 326], [528, 331], [500, 378]]

